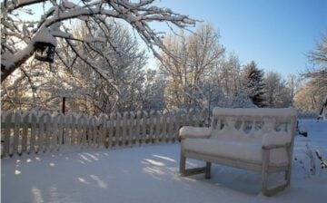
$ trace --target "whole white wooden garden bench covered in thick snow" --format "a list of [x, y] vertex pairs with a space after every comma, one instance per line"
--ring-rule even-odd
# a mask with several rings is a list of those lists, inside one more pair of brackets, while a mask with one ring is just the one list
[[[292, 148], [296, 111], [285, 109], [213, 109], [210, 128], [184, 126], [180, 129], [183, 176], [205, 172], [211, 163], [253, 169], [262, 173], [262, 192], [272, 196], [291, 182]], [[206, 167], [186, 169], [186, 158], [206, 161]], [[270, 173], [284, 172], [280, 184], [268, 188]]]

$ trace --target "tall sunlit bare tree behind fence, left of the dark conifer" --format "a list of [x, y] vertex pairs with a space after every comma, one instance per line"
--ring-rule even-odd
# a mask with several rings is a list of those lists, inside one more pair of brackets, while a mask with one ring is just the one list
[[175, 56], [162, 53], [167, 108], [208, 108], [202, 87], [224, 52], [219, 34], [212, 25], [202, 24], [193, 35], [166, 37], [164, 45]]

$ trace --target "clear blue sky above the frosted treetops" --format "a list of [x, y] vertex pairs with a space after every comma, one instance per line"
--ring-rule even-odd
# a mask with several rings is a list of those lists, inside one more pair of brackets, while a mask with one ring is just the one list
[[[155, 3], [214, 25], [228, 52], [265, 72], [301, 73], [322, 34], [327, 0], [159, 0]], [[155, 27], [160, 29], [160, 27]]]

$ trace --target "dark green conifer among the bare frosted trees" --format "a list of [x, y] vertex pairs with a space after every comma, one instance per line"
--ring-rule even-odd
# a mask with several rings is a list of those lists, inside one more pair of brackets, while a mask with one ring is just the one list
[[264, 107], [263, 99], [263, 70], [257, 68], [253, 61], [245, 65], [243, 69], [243, 92], [258, 107]]

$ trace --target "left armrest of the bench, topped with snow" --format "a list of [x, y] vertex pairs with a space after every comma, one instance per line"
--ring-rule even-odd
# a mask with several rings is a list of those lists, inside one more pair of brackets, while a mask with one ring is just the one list
[[179, 131], [179, 136], [184, 138], [209, 138], [212, 130], [210, 128], [183, 126]]

